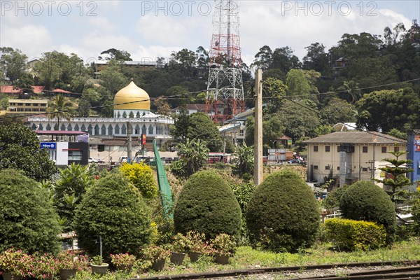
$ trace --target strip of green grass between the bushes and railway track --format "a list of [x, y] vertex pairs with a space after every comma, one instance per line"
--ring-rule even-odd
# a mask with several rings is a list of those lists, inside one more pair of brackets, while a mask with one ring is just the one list
[[[230, 258], [229, 265], [216, 265], [210, 257], [200, 259], [192, 263], [188, 257], [183, 265], [165, 265], [161, 272], [151, 269], [133, 271], [131, 274], [121, 272], [109, 273], [100, 279], [127, 279], [135, 276], [157, 276], [170, 274], [188, 274], [199, 272], [211, 272], [231, 269], [251, 269], [255, 267], [288, 267], [322, 265], [350, 262], [380, 262], [380, 261], [405, 261], [420, 259], [420, 238], [412, 238], [410, 241], [402, 241], [394, 244], [391, 248], [379, 248], [373, 251], [339, 252], [332, 251], [332, 244], [318, 244], [299, 253], [272, 253], [269, 251], [255, 250], [249, 246], [237, 248], [235, 256]], [[88, 272], [78, 272], [76, 279], [98, 279]]]

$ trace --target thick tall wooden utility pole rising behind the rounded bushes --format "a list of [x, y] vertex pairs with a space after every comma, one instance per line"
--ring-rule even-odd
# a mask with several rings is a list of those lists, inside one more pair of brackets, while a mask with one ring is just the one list
[[254, 184], [262, 183], [262, 70], [255, 71]]

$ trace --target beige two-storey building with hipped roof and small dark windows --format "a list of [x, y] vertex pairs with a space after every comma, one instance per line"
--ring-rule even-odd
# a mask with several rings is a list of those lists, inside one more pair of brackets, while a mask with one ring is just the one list
[[[303, 141], [307, 144], [307, 179], [323, 183], [335, 178], [340, 186], [372, 178], [384, 179], [388, 152], [407, 151], [407, 141], [379, 132], [333, 132]], [[402, 155], [400, 160], [405, 160]], [[381, 186], [382, 187], [382, 186]]]

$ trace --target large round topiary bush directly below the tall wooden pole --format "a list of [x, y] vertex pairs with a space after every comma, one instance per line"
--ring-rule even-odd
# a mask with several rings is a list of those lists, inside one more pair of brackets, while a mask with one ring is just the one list
[[314, 244], [320, 214], [314, 193], [299, 174], [290, 170], [272, 173], [248, 204], [251, 245], [274, 252], [309, 247]]

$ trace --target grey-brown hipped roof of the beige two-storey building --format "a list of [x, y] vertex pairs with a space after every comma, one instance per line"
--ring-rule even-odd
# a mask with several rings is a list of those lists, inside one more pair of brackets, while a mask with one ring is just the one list
[[303, 141], [306, 144], [407, 144], [406, 140], [379, 132], [333, 132]]

